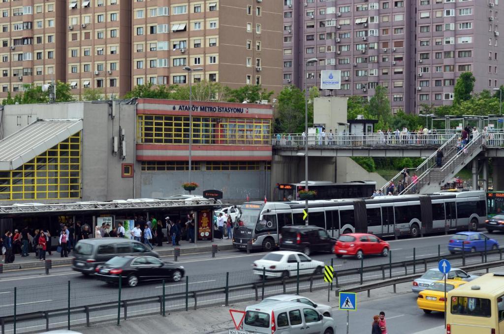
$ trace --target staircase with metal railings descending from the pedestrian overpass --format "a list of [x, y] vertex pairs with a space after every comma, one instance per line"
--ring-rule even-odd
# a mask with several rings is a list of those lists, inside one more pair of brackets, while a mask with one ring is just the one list
[[[432, 193], [439, 191], [440, 187], [452, 179], [458, 172], [470, 163], [484, 148], [484, 138], [480, 134], [473, 138], [463, 150], [457, 152], [455, 137], [447, 142], [443, 147], [443, 166], [437, 167], [435, 164], [436, 152], [431, 155], [417, 170], [418, 182], [416, 187], [413, 183], [409, 184], [400, 194], [412, 193]], [[421, 171], [419, 174], [418, 171]]]

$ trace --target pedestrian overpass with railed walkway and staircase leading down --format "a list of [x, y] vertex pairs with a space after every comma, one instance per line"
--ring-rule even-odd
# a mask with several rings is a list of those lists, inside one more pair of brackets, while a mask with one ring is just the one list
[[[416, 173], [416, 186], [408, 185], [401, 193], [431, 193], [450, 181], [466, 165], [472, 163], [472, 184], [483, 181], [483, 188], [488, 186], [488, 158], [494, 159], [493, 184], [500, 186], [499, 171], [504, 167], [504, 131], [479, 133], [471, 139], [464, 150], [457, 149], [460, 133], [453, 130], [423, 133], [366, 133], [362, 135], [327, 135], [305, 136], [296, 134], [275, 135], [272, 138], [273, 154], [278, 156], [304, 156], [305, 144], [308, 157], [422, 157], [423, 163], [410, 169]], [[307, 142], [306, 142], [307, 141]], [[435, 164], [436, 150], [444, 154], [443, 166]], [[482, 174], [482, 179], [478, 176]], [[398, 183], [403, 177], [398, 173], [386, 183], [386, 191], [391, 182]], [[504, 179], [502, 180], [504, 181]]]

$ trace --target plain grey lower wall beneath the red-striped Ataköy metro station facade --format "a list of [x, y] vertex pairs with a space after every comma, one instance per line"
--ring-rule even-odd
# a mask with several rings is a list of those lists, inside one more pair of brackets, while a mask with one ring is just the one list
[[[191, 178], [200, 186], [193, 191], [201, 195], [203, 190], [216, 189], [224, 193], [223, 201], [231, 204], [246, 202], [247, 195], [252, 200], [262, 200], [266, 189], [270, 188], [270, 171], [193, 171]], [[168, 197], [188, 193], [182, 189], [187, 180], [186, 171], [142, 172], [141, 195], [137, 197]], [[265, 184], [266, 183], [266, 184]], [[267, 194], [268, 199], [270, 195]]]

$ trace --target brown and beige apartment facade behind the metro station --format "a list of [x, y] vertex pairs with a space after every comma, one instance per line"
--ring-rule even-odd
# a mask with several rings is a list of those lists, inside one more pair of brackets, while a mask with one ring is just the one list
[[[0, 98], [68, 82], [79, 97], [216, 81], [282, 88], [282, 4], [260, 0], [4, 0]], [[202, 69], [191, 78], [184, 66]]]

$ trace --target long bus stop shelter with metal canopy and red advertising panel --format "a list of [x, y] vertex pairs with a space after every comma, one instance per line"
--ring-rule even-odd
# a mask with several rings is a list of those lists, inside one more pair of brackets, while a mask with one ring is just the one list
[[76, 202], [63, 204], [24, 203], [0, 206], [0, 230], [21, 231], [28, 227], [31, 231], [43, 228], [49, 230], [52, 245], [57, 245], [62, 226], [73, 226], [94, 237], [94, 229], [102, 223], [110, 224], [110, 228], [123, 226], [128, 231], [133, 229], [135, 222], [156, 218], [163, 223], [163, 234], [166, 237], [165, 217], [173, 222], [180, 221], [185, 226], [190, 217], [195, 222], [196, 241], [212, 240], [212, 218], [214, 210], [222, 204], [213, 198], [190, 199], [127, 199], [110, 202]]

